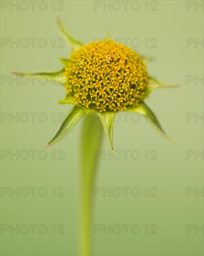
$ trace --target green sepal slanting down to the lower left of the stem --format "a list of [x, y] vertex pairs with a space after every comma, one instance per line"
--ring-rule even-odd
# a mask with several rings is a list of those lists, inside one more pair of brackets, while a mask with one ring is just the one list
[[51, 139], [51, 141], [45, 146], [46, 148], [60, 141], [66, 136], [70, 130], [76, 125], [80, 118], [85, 114], [83, 108], [75, 106], [71, 109], [70, 113], [67, 115], [63, 124], [57, 131], [57, 134]]

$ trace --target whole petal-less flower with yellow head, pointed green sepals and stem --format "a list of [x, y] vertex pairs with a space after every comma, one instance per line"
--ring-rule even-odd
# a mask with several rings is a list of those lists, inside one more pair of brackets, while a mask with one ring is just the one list
[[[172, 141], [161, 128], [156, 115], [147, 107], [144, 99], [156, 88], [176, 87], [176, 85], [163, 84], [149, 76], [144, 59], [129, 47], [109, 39], [83, 45], [64, 29], [60, 20], [57, 20], [57, 23], [72, 51], [70, 58], [60, 59], [64, 68], [52, 73], [16, 73], [18, 75], [33, 75], [37, 79], [44, 75], [51, 81], [54, 78], [56, 82], [64, 86], [66, 92], [65, 99], [58, 100], [59, 103], [75, 105], [46, 147], [55, 144], [67, 135], [83, 115], [94, 114], [101, 121], [110, 148], [114, 150], [113, 124], [115, 115], [119, 111], [135, 112], [145, 116], [150, 124]], [[83, 126], [82, 162], [84, 165], [82, 177], [86, 181], [83, 182], [82, 187], [84, 191], [88, 191], [83, 195], [83, 214], [85, 215], [82, 218], [83, 255], [90, 254], [88, 215], [94, 163], [91, 162], [93, 152], [89, 151], [99, 146], [102, 126], [98, 125], [97, 120], [93, 122], [89, 118], [85, 120]], [[91, 136], [92, 140], [87, 135]], [[87, 146], [89, 146], [89, 150], [87, 150]], [[90, 168], [91, 164], [92, 168]], [[86, 175], [89, 172], [90, 178], [87, 179]]]

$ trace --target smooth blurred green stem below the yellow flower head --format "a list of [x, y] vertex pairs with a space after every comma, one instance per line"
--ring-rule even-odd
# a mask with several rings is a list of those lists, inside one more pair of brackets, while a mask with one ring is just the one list
[[99, 150], [102, 125], [93, 115], [85, 115], [82, 129], [81, 151], [81, 209], [80, 209], [80, 255], [91, 255], [91, 208], [96, 170], [94, 151]]

